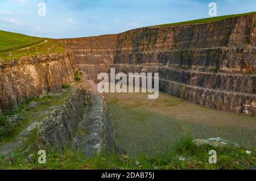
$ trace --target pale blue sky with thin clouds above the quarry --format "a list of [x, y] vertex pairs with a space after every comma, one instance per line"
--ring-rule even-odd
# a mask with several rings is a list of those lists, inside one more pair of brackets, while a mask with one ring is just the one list
[[105, 35], [209, 18], [210, 2], [217, 16], [256, 11], [256, 0], [0, 0], [0, 30], [51, 38]]

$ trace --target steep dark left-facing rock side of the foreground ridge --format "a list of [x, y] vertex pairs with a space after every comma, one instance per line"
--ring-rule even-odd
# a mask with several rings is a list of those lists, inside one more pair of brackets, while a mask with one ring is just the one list
[[75, 129], [89, 106], [90, 94], [86, 86], [74, 90], [62, 106], [42, 120], [38, 129], [39, 142], [47, 148], [70, 148]]

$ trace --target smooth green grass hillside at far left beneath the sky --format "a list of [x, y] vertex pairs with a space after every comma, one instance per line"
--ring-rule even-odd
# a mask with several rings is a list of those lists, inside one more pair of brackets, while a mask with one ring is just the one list
[[44, 41], [44, 39], [40, 39], [38, 37], [32, 37], [1, 30], [0, 40], [0, 53], [30, 47], [31, 45], [39, 44]]

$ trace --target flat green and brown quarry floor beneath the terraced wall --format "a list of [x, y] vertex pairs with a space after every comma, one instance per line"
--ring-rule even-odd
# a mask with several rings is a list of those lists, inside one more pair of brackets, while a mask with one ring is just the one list
[[160, 93], [106, 93], [115, 142], [129, 155], [162, 154], [192, 134], [195, 139], [221, 137], [245, 149], [256, 148], [256, 119], [213, 110]]

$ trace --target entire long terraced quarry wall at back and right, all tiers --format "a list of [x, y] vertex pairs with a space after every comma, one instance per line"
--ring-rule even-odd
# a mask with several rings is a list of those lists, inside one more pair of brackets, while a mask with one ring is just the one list
[[159, 72], [160, 90], [211, 108], [256, 115], [256, 15], [146, 27], [117, 35], [61, 39], [90, 79]]

